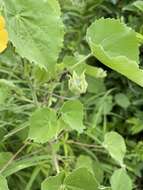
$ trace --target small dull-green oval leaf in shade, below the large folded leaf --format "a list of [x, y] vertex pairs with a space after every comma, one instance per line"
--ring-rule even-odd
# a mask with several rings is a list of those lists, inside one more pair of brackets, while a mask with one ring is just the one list
[[128, 108], [128, 106], [130, 105], [130, 101], [129, 101], [128, 97], [123, 93], [116, 94], [115, 101], [122, 108]]

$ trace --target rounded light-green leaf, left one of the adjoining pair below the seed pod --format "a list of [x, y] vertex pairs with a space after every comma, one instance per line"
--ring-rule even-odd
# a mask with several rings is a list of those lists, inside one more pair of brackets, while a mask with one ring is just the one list
[[56, 112], [49, 108], [38, 108], [30, 117], [29, 138], [37, 143], [46, 143], [56, 138], [60, 131]]

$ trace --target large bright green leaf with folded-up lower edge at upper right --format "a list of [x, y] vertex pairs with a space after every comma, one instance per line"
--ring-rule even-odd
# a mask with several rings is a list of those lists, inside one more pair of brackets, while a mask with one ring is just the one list
[[99, 61], [143, 86], [135, 31], [119, 20], [101, 18], [88, 28], [87, 41]]

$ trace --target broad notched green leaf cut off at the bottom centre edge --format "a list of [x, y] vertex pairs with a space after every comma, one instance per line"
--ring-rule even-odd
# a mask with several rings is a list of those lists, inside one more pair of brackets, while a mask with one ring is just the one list
[[87, 168], [79, 168], [65, 177], [61, 172], [42, 183], [41, 190], [98, 190], [94, 175]]

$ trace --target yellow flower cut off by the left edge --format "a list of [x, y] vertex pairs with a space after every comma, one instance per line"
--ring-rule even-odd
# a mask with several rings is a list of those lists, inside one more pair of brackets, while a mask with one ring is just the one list
[[0, 53], [7, 48], [8, 33], [5, 29], [5, 20], [0, 16]]

